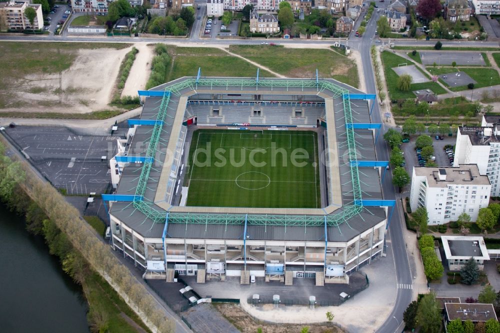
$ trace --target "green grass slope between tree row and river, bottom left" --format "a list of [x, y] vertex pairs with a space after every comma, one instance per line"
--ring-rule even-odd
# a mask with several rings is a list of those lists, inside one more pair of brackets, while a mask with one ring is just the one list
[[[85, 296], [91, 311], [97, 313], [96, 316], [100, 317], [100, 325], [105, 327], [105, 329], [98, 327], [100, 329], [95, 329], [95, 331], [135, 333], [138, 331], [137, 327], [132, 326], [125, 319], [129, 317], [136, 325], [149, 332], [140, 318], [97, 273], [87, 274], [82, 286], [85, 289]], [[88, 316], [92, 322], [92, 312]]]

